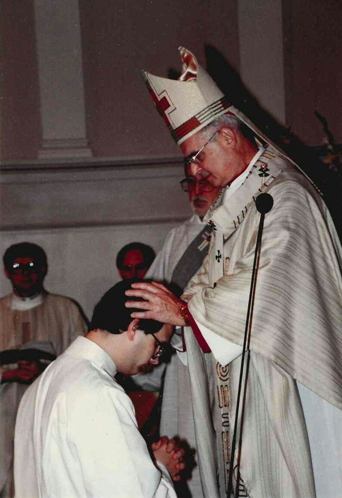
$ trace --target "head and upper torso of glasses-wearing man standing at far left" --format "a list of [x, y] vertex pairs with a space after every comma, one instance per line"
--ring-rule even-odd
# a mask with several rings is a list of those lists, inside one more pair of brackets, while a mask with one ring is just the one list
[[43, 340], [51, 341], [56, 355], [60, 355], [72, 339], [87, 330], [79, 305], [44, 289], [47, 258], [36, 244], [10, 246], [3, 264], [12, 293], [0, 299], [0, 351]]

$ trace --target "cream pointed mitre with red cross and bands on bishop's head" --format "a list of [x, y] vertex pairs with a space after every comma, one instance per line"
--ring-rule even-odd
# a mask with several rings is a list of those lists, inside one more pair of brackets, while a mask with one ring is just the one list
[[196, 57], [179, 47], [183, 72], [178, 80], [143, 71], [143, 77], [159, 114], [178, 145], [230, 107], [226, 97]]

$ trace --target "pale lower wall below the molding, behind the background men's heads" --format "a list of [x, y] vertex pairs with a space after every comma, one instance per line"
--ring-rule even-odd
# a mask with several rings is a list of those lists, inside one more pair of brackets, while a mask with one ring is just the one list
[[[90, 319], [95, 304], [119, 280], [115, 257], [129, 242], [139, 241], [156, 251], [175, 223], [113, 225], [96, 228], [27, 230], [3, 232], [0, 250], [17, 242], [34, 242], [48, 255], [49, 270], [45, 288], [76, 299]], [[1, 295], [11, 290], [1, 273]]]

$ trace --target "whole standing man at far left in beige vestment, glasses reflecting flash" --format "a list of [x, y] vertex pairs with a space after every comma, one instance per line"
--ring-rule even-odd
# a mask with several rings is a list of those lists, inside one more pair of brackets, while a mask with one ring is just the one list
[[[50, 294], [43, 287], [47, 273], [45, 251], [23, 242], [6, 249], [4, 272], [12, 293], [0, 299], [0, 352], [30, 349], [58, 356], [87, 330], [79, 306], [70, 298]], [[33, 342], [33, 344], [32, 344]], [[27, 346], [27, 347], [28, 347]], [[17, 353], [21, 358], [23, 353]], [[0, 496], [13, 496], [13, 436], [17, 406], [26, 388], [40, 373], [36, 360], [6, 362], [0, 371]], [[40, 357], [43, 356], [40, 354]], [[26, 357], [28, 358], [28, 357]]]

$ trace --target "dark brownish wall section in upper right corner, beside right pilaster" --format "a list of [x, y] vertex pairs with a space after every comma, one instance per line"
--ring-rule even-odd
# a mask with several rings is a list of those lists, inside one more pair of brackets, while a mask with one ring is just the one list
[[342, 141], [342, 2], [283, 0], [286, 124], [304, 143], [322, 143], [327, 120]]

